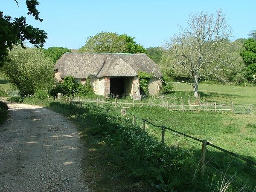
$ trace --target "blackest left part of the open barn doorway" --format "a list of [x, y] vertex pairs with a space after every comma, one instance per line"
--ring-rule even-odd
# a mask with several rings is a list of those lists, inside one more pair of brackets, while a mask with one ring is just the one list
[[121, 97], [125, 95], [123, 77], [110, 78], [110, 92], [111, 92], [111, 97]]

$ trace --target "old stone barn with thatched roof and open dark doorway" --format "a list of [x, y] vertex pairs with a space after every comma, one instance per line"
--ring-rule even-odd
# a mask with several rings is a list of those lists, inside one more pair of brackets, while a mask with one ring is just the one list
[[[55, 64], [55, 77], [57, 79], [72, 75], [83, 83], [90, 77], [96, 94], [103, 95], [102, 90], [104, 89], [106, 97], [110, 94], [128, 94], [135, 97], [137, 94], [137, 98], [140, 95], [140, 93], [137, 93], [140, 92], [140, 90], [137, 90], [139, 89], [139, 85], [137, 85], [139, 71], [152, 73], [155, 77], [162, 76], [156, 63], [146, 54], [65, 53]], [[104, 83], [101, 81], [104, 81]], [[151, 81], [157, 82], [157, 78]], [[99, 86], [101, 83], [104, 86]], [[109, 90], [108, 84], [110, 84]], [[158, 92], [159, 82], [154, 87], [157, 90], [151, 91], [154, 92], [153, 95]]]

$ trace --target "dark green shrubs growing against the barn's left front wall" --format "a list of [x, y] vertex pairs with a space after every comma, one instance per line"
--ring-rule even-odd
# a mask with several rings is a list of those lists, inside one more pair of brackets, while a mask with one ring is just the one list
[[66, 96], [94, 94], [90, 79], [87, 79], [85, 84], [77, 83], [75, 77], [71, 75], [64, 77], [64, 82], [57, 83], [56, 86], [50, 91], [50, 95], [52, 96], [56, 96], [58, 93]]

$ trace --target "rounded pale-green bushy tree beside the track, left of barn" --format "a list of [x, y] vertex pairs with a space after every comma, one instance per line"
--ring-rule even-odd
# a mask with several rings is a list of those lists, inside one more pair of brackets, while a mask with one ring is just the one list
[[21, 96], [31, 95], [36, 89], [48, 89], [54, 82], [51, 60], [37, 48], [22, 49], [14, 46], [2, 72], [10, 83], [20, 91]]

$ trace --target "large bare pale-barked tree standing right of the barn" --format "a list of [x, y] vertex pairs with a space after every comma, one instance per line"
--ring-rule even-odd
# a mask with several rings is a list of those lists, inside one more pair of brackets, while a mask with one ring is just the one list
[[198, 83], [202, 78], [224, 80], [218, 71], [230, 66], [226, 49], [232, 32], [222, 10], [216, 14], [190, 14], [187, 24], [186, 29], [179, 26], [180, 32], [166, 41], [166, 47], [174, 58], [173, 66], [192, 77], [193, 83], [189, 84], [198, 97]]

